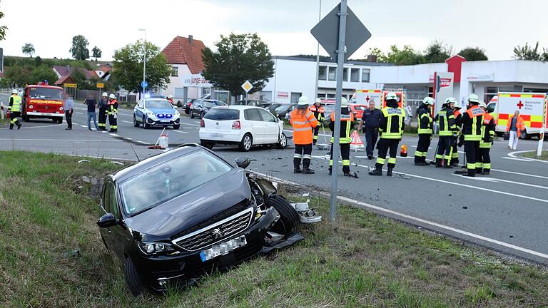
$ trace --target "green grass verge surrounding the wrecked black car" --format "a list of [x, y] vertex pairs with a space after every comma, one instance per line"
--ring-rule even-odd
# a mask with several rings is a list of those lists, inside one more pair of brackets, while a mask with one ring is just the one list
[[548, 307], [546, 269], [346, 206], [293, 247], [135, 299], [81, 181], [120, 166], [80, 159], [0, 152], [0, 307]]

